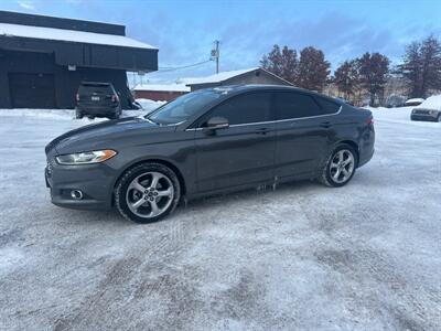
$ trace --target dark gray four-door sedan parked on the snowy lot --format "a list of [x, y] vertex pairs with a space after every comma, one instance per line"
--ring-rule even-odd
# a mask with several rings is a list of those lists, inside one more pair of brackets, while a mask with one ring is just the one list
[[370, 111], [286, 86], [193, 92], [147, 116], [85, 126], [46, 146], [52, 202], [148, 223], [182, 199], [316, 179], [343, 186], [374, 153]]

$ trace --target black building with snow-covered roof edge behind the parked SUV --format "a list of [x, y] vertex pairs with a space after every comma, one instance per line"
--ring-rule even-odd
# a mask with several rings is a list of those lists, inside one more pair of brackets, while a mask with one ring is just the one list
[[0, 108], [74, 108], [80, 82], [112, 83], [128, 108], [126, 72], [157, 70], [123, 25], [0, 11]]

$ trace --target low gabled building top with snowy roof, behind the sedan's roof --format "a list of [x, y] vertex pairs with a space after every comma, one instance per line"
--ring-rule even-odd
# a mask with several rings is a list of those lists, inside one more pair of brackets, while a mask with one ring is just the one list
[[201, 88], [225, 86], [225, 85], [247, 85], [247, 84], [268, 84], [268, 85], [292, 85], [288, 81], [261, 68], [251, 67], [248, 70], [223, 72], [202, 78], [183, 78], [183, 83], [190, 86], [191, 90]]

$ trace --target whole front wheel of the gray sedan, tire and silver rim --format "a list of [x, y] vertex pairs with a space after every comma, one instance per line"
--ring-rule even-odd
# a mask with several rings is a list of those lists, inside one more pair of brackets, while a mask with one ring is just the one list
[[142, 163], [127, 170], [115, 192], [119, 213], [136, 223], [151, 223], [165, 217], [174, 211], [180, 199], [178, 175], [161, 163]]

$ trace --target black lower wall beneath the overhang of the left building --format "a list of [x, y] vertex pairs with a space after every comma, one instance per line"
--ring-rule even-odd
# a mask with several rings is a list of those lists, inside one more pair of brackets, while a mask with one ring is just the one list
[[[23, 74], [28, 74], [28, 78]], [[123, 70], [76, 67], [76, 71], [68, 71], [67, 66], [55, 64], [53, 53], [0, 50], [0, 90], [2, 92], [0, 94], [0, 108], [13, 107], [13, 94], [23, 93], [25, 95], [29, 93], [29, 90], [11, 90], [12, 76], [15, 78], [22, 76], [21, 79], [23, 81], [33, 76], [53, 76], [53, 95], [47, 90], [44, 92], [46, 97], [53, 96], [55, 98], [56, 108], [74, 108], [76, 92], [79, 83], [84, 81], [112, 83], [115, 89], [120, 94], [123, 108], [129, 107], [129, 99], [131, 98], [130, 90], [127, 87], [126, 71]], [[22, 83], [22, 86], [25, 86], [22, 88], [34, 88], [30, 82]], [[51, 107], [49, 105], [51, 103], [47, 103], [47, 107]], [[25, 107], [33, 108], [35, 106], [30, 103]]]

